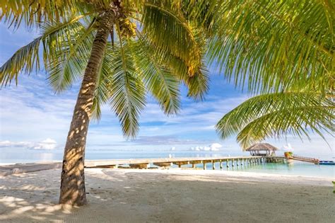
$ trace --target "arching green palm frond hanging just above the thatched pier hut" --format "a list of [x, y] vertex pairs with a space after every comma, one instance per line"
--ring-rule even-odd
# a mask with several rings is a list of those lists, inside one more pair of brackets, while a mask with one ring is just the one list
[[221, 138], [237, 135], [243, 148], [266, 137], [287, 133], [309, 136], [310, 130], [334, 132], [334, 108], [331, 99], [320, 93], [270, 93], [256, 96], [234, 108], [216, 125]]

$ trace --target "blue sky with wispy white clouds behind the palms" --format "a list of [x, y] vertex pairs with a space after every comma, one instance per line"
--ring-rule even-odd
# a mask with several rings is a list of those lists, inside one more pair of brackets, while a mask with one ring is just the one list
[[[0, 23], [0, 65], [18, 50], [37, 37], [37, 33], [19, 29], [8, 30]], [[78, 84], [61, 95], [55, 94], [47, 85], [45, 72], [21, 75], [18, 85], [12, 84], [0, 90], [0, 160], [1, 154], [19, 151], [61, 151], [65, 144], [72, 111], [78, 91]], [[102, 109], [100, 122], [92, 122], [88, 132], [88, 151], [110, 151], [131, 149], [188, 150], [191, 147], [209, 147], [219, 143], [221, 151], [240, 151], [235, 138], [221, 140], [216, 135], [214, 125], [230, 109], [248, 98], [227, 84], [223, 76], [211, 70], [211, 86], [206, 100], [195, 103], [182, 90], [182, 110], [179, 115], [167, 117], [157, 103], [148, 96], [146, 110], [141, 115], [141, 128], [137, 139], [127, 141], [122, 136], [121, 127], [108, 106]], [[328, 137], [334, 147], [334, 139]], [[333, 151], [317, 136], [312, 142], [302, 142], [288, 135], [287, 142], [295, 151], [331, 155]], [[283, 147], [286, 140], [269, 139], [277, 147]], [[334, 154], [333, 154], [334, 156]], [[112, 157], [110, 157], [112, 158]]]

